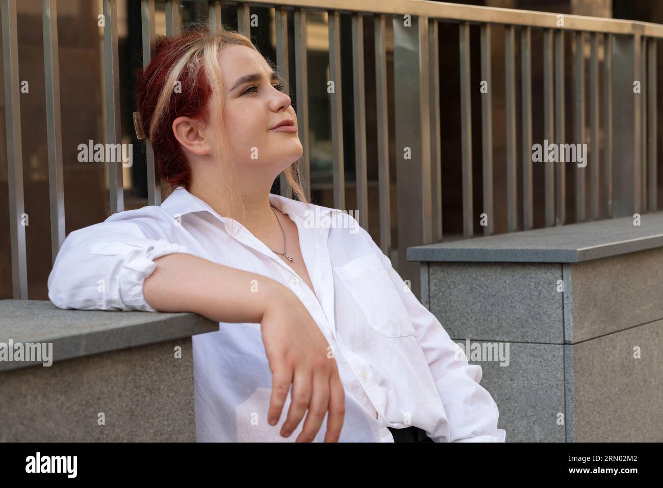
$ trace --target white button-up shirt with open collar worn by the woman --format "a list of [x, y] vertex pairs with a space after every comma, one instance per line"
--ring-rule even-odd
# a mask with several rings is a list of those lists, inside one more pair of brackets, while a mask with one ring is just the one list
[[[339, 442], [393, 442], [388, 426], [422, 428], [435, 442], [504, 442], [497, 405], [479, 385], [481, 366], [467, 363], [357, 220], [280, 195], [269, 201], [297, 226], [313, 290], [247, 228], [178, 187], [160, 206], [71, 232], [48, 297], [66, 309], [155, 311], [143, 281], [153, 260], [176, 252], [269, 276], [297, 295], [333, 351], [345, 389]], [[279, 434], [290, 394], [278, 424], [267, 423], [271, 370], [259, 323], [219, 323], [192, 341], [198, 442], [296, 440], [303, 419], [288, 438]]]

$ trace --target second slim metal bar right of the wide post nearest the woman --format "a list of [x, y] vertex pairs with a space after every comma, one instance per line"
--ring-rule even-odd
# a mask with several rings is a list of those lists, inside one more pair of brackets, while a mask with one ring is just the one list
[[460, 126], [463, 168], [463, 236], [474, 234], [472, 208], [472, 98], [469, 80], [469, 22], [458, 25], [460, 54]]

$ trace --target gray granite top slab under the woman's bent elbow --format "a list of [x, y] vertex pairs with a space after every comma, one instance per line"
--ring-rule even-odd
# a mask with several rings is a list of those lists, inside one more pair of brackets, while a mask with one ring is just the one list
[[[64, 310], [48, 300], [0, 300], [0, 343], [52, 343], [62, 361], [219, 330], [195, 313]], [[0, 361], [0, 371], [42, 362]]]

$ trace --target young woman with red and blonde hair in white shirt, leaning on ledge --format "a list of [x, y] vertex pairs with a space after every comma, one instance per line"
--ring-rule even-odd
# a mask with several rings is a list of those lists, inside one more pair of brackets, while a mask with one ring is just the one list
[[[192, 339], [199, 442], [505, 440], [481, 367], [357, 220], [306, 202], [296, 114], [249, 39], [160, 37], [138, 86], [174, 191], [70, 233], [55, 305], [218, 321]], [[299, 201], [269, 193], [281, 172]]]

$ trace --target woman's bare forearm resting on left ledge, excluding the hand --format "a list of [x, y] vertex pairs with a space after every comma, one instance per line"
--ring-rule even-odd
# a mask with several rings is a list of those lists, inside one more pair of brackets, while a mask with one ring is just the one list
[[158, 311], [191, 311], [219, 322], [260, 323], [276, 300], [294, 297], [267, 276], [222, 266], [192, 254], [168, 254], [143, 283]]

